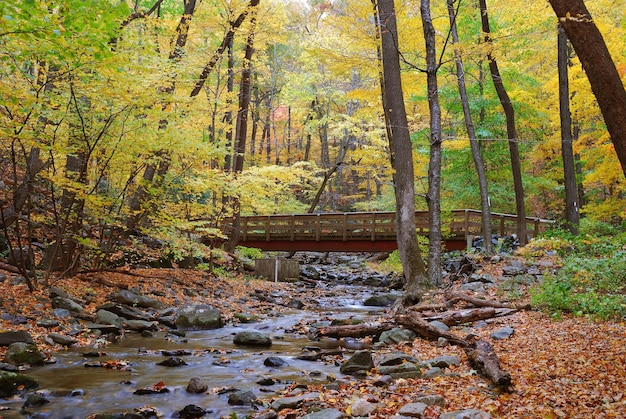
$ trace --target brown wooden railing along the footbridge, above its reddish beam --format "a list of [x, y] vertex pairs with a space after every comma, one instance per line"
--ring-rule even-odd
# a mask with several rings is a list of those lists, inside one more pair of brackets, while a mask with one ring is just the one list
[[[482, 214], [478, 210], [450, 211], [446, 217], [446, 238], [467, 239], [481, 235]], [[445, 215], [444, 214], [444, 215]], [[492, 230], [500, 236], [517, 232], [517, 216], [492, 213]], [[428, 235], [428, 211], [416, 211], [415, 227], [420, 235]], [[526, 231], [535, 237], [551, 223], [535, 217], [526, 217]], [[232, 220], [227, 220], [224, 231], [230, 234]], [[240, 240], [247, 241], [301, 241], [301, 240], [395, 240], [395, 212], [347, 212], [291, 215], [249, 215], [240, 219]]]

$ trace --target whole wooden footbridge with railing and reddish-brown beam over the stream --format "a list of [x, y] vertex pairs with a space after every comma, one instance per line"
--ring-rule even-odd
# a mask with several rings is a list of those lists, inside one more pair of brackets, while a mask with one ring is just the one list
[[[482, 215], [472, 209], [442, 213], [444, 237], [448, 250], [461, 250], [481, 235]], [[517, 216], [491, 214], [492, 232], [508, 236], [517, 232]], [[526, 217], [528, 237], [535, 237], [554, 221]], [[418, 235], [428, 236], [428, 211], [415, 212]], [[224, 225], [233, 233], [233, 221]], [[379, 252], [397, 249], [395, 212], [346, 212], [293, 215], [241, 216], [241, 246], [262, 250]]]

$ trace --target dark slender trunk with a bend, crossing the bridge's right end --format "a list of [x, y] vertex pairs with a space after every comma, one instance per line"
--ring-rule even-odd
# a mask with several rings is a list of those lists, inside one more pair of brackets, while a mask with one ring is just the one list
[[[489, 15], [487, 14], [487, 2], [486, 0], [479, 0], [480, 15], [482, 22], [482, 29], [485, 35], [485, 42], [490, 44], [491, 30], [489, 26]], [[515, 109], [513, 109], [513, 103], [511, 98], [506, 92], [504, 83], [502, 82], [502, 76], [498, 69], [498, 62], [491, 54], [491, 51], [487, 55], [489, 60], [489, 70], [491, 71], [491, 80], [498, 93], [500, 104], [504, 109], [504, 115], [506, 117], [506, 134], [509, 139], [509, 153], [511, 155], [511, 171], [513, 172], [513, 188], [515, 190], [515, 208], [517, 212], [517, 236], [520, 244], [524, 245], [527, 242], [526, 237], [526, 206], [524, 205], [524, 185], [522, 183], [522, 167], [519, 157], [519, 148], [517, 146], [518, 138], [515, 128]]]

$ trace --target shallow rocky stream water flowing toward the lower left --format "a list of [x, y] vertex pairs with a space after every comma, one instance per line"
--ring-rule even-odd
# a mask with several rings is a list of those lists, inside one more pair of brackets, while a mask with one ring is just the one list
[[[339, 368], [333, 364], [299, 360], [306, 346], [324, 349], [337, 347], [332, 339], [311, 341], [305, 334], [297, 333], [299, 322], [329, 324], [332, 319], [351, 317], [366, 318], [376, 315], [379, 308], [364, 307], [362, 301], [372, 293], [363, 286], [336, 285], [337, 297], [318, 301], [316, 310], [292, 310], [266, 317], [256, 323], [226, 325], [216, 330], [188, 331], [184, 337], [159, 332], [154, 337], [127, 334], [105, 348], [105, 355], [87, 358], [91, 348], [69, 348], [52, 354], [56, 363], [33, 368], [26, 374], [40, 384], [38, 392], [49, 403], [28, 408], [19, 413], [23, 398], [0, 400], [1, 418], [82, 419], [95, 413], [132, 412], [142, 406], [156, 408], [162, 417], [175, 417], [187, 405], [197, 405], [210, 410], [206, 418], [220, 418], [236, 413], [245, 417], [254, 413], [254, 407], [231, 406], [228, 392], [222, 389], [251, 390], [259, 399], [277, 397], [278, 391], [290, 383], [326, 383], [329, 376], [341, 377]], [[324, 323], [326, 322], [326, 323]], [[272, 338], [270, 348], [236, 346], [236, 333], [251, 330], [268, 333]], [[177, 355], [188, 365], [166, 367], [157, 365], [169, 356], [162, 351], [186, 351]], [[268, 367], [264, 360], [278, 356], [287, 362], [281, 367]], [[88, 368], [85, 364], [124, 361], [126, 370]], [[190, 378], [200, 377], [208, 382], [206, 393], [186, 392]], [[276, 383], [261, 386], [257, 382], [271, 378]], [[149, 388], [163, 382], [169, 392], [148, 395], [133, 394], [138, 389]]]

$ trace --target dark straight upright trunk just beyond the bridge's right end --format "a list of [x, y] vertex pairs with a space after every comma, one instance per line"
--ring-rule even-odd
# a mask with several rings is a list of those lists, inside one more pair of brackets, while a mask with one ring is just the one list
[[578, 235], [580, 213], [576, 199], [577, 185], [574, 168], [574, 150], [572, 149], [572, 116], [569, 107], [569, 80], [567, 67], [569, 52], [567, 35], [559, 25], [558, 35], [558, 69], [559, 69], [559, 114], [561, 116], [561, 153], [563, 155], [563, 180], [565, 182], [565, 219], [567, 229]]

